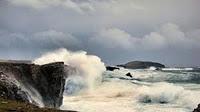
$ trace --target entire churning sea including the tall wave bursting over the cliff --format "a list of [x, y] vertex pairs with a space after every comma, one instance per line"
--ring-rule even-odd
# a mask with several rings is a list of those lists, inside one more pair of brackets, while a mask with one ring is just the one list
[[[64, 61], [67, 69], [62, 110], [80, 112], [191, 112], [200, 103], [200, 72], [192, 69], [106, 71], [101, 59], [59, 49], [34, 63]], [[128, 77], [125, 74], [131, 73]]]

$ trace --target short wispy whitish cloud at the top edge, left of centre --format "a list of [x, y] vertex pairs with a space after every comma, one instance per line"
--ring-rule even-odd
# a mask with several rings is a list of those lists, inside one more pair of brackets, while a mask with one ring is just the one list
[[46, 9], [51, 7], [63, 7], [74, 10], [78, 13], [94, 11], [92, 4], [88, 1], [74, 2], [73, 0], [8, 0], [16, 6], [25, 6], [34, 9]]

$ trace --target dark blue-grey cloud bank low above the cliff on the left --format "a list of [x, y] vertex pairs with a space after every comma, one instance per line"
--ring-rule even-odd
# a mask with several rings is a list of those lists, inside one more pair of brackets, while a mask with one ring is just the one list
[[55, 30], [37, 33], [12, 33], [0, 30], [0, 40], [0, 50], [3, 51], [1, 57], [11, 59], [32, 59], [43, 52], [63, 47], [71, 50], [81, 48], [81, 42], [74, 36]]

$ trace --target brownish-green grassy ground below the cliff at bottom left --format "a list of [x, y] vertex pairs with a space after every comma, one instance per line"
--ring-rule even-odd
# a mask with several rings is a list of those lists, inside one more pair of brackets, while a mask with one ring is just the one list
[[30, 103], [17, 102], [0, 98], [0, 112], [75, 112], [56, 110], [52, 108], [39, 108]]

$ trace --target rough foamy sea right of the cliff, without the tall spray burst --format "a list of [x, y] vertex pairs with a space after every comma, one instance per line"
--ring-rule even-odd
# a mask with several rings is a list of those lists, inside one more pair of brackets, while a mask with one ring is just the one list
[[[132, 78], [125, 74], [131, 73]], [[191, 112], [200, 103], [200, 72], [192, 68], [105, 71], [91, 90], [66, 81], [61, 109], [80, 112]], [[87, 87], [86, 87], [87, 88]]]

